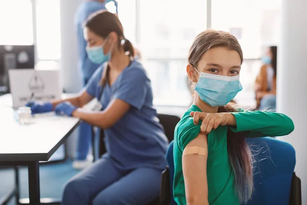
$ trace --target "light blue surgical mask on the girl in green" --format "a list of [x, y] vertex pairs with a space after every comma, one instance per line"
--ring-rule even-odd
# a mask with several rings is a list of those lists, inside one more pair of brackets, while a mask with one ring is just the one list
[[243, 89], [238, 75], [229, 77], [200, 73], [196, 68], [194, 69], [200, 74], [195, 91], [201, 100], [211, 107], [227, 105]]

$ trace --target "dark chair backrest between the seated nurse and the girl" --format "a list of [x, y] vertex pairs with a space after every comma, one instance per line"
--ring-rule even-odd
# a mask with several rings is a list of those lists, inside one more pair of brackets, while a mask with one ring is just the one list
[[175, 115], [158, 114], [158, 118], [160, 120], [160, 124], [164, 128], [164, 132], [168, 138], [168, 141], [172, 141], [174, 139], [174, 130], [180, 121], [180, 117]]

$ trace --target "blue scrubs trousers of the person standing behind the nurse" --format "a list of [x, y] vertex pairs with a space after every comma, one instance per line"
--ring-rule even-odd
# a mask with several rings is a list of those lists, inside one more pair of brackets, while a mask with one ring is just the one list
[[[89, 79], [84, 79], [84, 85], [87, 84]], [[89, 149], [92, 146], [93, 128], [90, 124], [82, 121], [79, 125], [78, 130], [78, 140], [77, 140], [77, 150], [76, 150], [76, 160], [85, 160]]]

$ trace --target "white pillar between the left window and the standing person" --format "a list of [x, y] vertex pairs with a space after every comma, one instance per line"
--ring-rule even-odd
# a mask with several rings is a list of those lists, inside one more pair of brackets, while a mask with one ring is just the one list
[[[61, 0], [61, 59], [60, 68], [63, 87], [66, 92], [79, 92], [82, 84], [77, 68], [77, 38], [74, 27], [74, 15], [83, 0]], [[76, 129], [67, 140], [67, 153], [69, 157], [73, 157], [76, 149]]]

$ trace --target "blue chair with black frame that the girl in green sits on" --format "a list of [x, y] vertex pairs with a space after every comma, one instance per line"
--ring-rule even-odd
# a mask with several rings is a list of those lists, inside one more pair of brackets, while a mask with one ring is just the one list
[[[293, 173], [295, 150], [287, 142], [271, 137], [247, 138], [255, 155], [254, 193], [248, 205], [301, 205], [300, 179]], [[167, 169], [162, 176], [160, 205], [177, 205], [173, 200], [173, 142], [166, 153]], [[168, 179], [168, 181], [166, 181]], [[163, 188], [164, 187], [164, 188]], [[168, 190], [165, 188], [169, 187]], [[166, 191], [165, 191], [166, 190]]]

